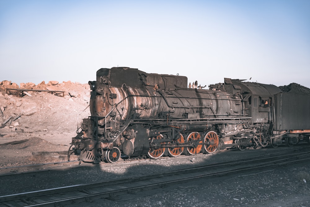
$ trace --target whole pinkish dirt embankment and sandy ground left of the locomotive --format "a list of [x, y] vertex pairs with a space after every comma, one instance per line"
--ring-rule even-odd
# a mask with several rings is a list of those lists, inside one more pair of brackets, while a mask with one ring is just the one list
[[[38, 91], [26, 91], [27, 95], [21, 92], [24, 96], [20, 97], [8, 95], [6, 88], [64, 91], [64, 97]], [[18, 86], [2, 81], [0, 89], [0, 168], [36, 163], [38, 160], [33, 154], [37, 152], [68, 150], [77, 125], [90, 115], [88, 84], [43, 81], [38, 85], [21, 83]], [[24, 142], [16, 142], [21, 140]]]

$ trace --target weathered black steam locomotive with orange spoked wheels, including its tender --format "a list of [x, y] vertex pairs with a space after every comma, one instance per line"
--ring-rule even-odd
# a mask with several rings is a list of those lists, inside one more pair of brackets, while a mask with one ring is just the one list
[[74, 152], [83, 162], [116, 163], [121, 155], [157, 159], [309, 142], [310, 96], [244, 81], [225, 78], [206, 90], [185, 76], [101, 68], [89, 81], [91, 116], [68, 158]]

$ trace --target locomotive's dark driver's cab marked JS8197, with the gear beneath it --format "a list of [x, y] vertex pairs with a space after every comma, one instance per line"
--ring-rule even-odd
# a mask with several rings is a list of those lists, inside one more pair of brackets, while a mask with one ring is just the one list
[[248, 146], [267, 146], [270, 142], [269, 133], [274, 123], [274, 94], [281, 90], [274, 85], [244, 82], [239, 79], [224, 79], [224, 86], [229, 93], [242, 97], [243, 110], [253, 127], [249, 133], [240, 133], [233, 137], [239, 143], [238, 149]]

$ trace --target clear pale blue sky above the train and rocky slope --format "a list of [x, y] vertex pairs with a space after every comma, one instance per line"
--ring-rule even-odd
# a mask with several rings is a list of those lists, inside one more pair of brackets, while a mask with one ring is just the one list
[[100, 68], [310, 88], [310, 1], [0, 0], [0, 81], [87, 83]]

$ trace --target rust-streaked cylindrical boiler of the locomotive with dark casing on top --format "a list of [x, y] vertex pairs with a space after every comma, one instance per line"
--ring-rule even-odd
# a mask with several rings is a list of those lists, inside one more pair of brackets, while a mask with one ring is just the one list
[[[103, 69], [100, 69], [100, 71], [102, 72]], [[110, 78], [115, 75], [110, 71], [107, 72], [106, 69], [104, 71], [104, 74], [109, 74]], [[138, 72], [136, 69], [116, 70], [116, 74], [120, 75], [121, 71], [122, 75], [116, 79], [116, 82], [118, 82], [116, 85], [126, 83], [126, 87], [111, 87], [110, 85], [115, 84], [112, 84], [111, 81], [107, 83], [108, 76], [105, 76], [103, 82], [90, 82], [91, 88], [94, 88], [91, 92], [90, 101], [92, 116], [105, 117], [111, 111], [115, 112], [116, 117], [119, 119], [129, 118], [133, 114], [138, 115], [140, 118], [155, 118], [161, 112], [170, 113], [175, 118], [186, 119], [236, 118], [243, 116], [241, 97], [238, 95], [197, 88], [179, 88], [176, 86], [177, 83], [180, 83], [179, 86], [181, 87], [186, 87], [183, 84], [185, 79], [182, 79], [181, 76], [147, 74], [145, 77], [145, 74]], [[131, 85], [134, 84], [131, 80], [120, 83], [120, 80], [124, 80], [123, 76], [126, 76], [124, 73], [128, 71], [132, 71], [137, 76], [132, 78], [133, 80], [145, 78], [148, 80], [146, 83], [151, 85], [145, 85], [143, 81]], [[102, 79], [97, 78], [97, 80]], [[160, 80], [166, 80], [167, 82]], [[132, 88], [128, 87], [128, 85], [131, 85]], [[155, 85], [158, 88], [155, 88]], [[173, 86], [173, 88], [163, 89], [168, 86]], [[111, 98], [108, 94], [115, 94], [115, 96]]]

